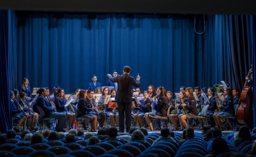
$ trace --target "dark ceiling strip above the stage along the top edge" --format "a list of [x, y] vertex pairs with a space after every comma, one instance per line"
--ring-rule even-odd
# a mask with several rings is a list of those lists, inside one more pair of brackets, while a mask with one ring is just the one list
[[256, 15], [255, 0], [1, 0], [0, 9], [161, 14]]

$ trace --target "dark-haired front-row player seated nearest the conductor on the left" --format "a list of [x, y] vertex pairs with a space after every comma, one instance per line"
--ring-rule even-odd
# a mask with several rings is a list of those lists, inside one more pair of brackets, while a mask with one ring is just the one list
[[90, 113], [95, 114], [95, 115], [97, 115], [97, 117], [100, 118], [99, 119], [100, 120], [99, 121], [99, 126], [104, 127], [104, 123], [105, 123], [106, 126], [108, 126], [107, 113], [105, 113], [105, 111], [98, 111], [98, 106], [95, 104], [95, 100], [93, 99], [93, 94], [94, 94], [94, 92], [92, 91], [92, 89], [88, 89], [87, 97], [85, 99], [87, 105], [94, 107], [94, 111], [92, 111]]

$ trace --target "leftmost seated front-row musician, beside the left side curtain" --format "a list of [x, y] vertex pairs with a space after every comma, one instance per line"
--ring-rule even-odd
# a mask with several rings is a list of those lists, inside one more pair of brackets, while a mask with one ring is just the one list
[[[18, 103], [18, 102], [16, 102]], [[23, 106], [23, 108], [25, 108]], [[13, 128], [13, 130], [18, 133], [19, 130], [20, 130], [20, 125], [21, 123], [23, 123], [23, 126], [26, 126], [26, 116], [24, 115], [22, 109], [23, 108], [20, 108], [20, 105], [17, 105], [14, 103], [14, 92], [11, 91], [11, 116], [14, 117], [14, 118], [20, 118], [20, 121], [18, 121], [18, 124], [17, 126], [15, 126]], [[23, 132], [26, 130], [26, 127], [23, 127]]]

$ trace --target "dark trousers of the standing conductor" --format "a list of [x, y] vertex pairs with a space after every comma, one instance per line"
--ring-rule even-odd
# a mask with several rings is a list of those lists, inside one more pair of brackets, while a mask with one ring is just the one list
[[126, 132], [129, 132], [132, 118], [132, 102], [118, 102], [119, 130], [121, 132], [124, 132], [124, 113], [126, 116]]

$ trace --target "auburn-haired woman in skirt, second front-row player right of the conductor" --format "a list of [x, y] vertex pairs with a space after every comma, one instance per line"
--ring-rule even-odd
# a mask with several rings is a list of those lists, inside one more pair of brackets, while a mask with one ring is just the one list
[[[180, 131], [183, 131], [184, 127], [188, 129], [188, 124], [186, 122], [187, 119], [198, 116], [195, 97], [193, 97], [193, 89], [191, 87], [186, 88], [185, 94], [188, 98], [188, 101], [184, 104], [181, 104], [183, 106], [183, 112], [179, 115], [181, 127]], [[186, 114], [184, 114], [184, 111], [186, 111]]]

